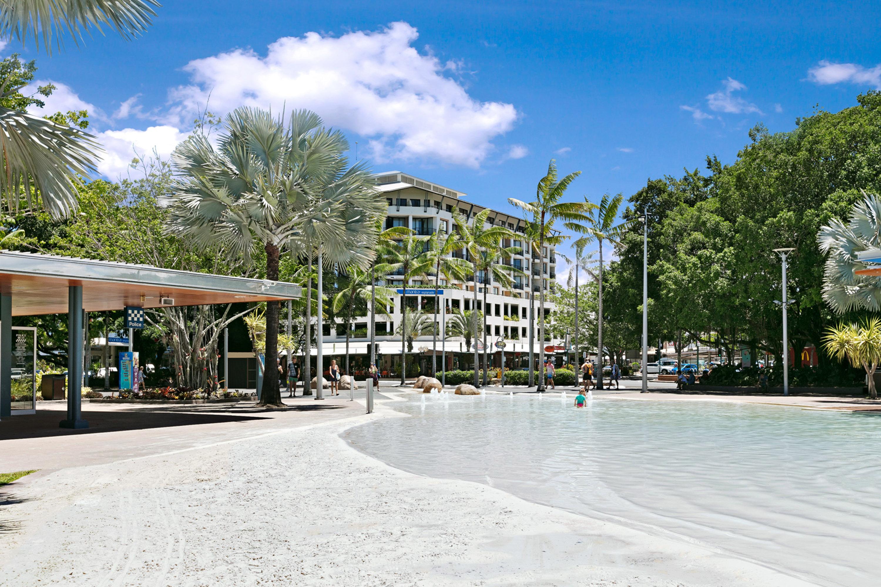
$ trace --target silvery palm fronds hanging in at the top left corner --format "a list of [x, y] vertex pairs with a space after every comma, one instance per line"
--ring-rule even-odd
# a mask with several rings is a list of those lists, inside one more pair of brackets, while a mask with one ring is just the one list
[[[61, 48], [63, 32], [77, 43], [83, 33], [109, 26], [123, 38], [143, 33], [155, 16], [155, 0], [6, 0], [0, 5], [0, 40], [12, 38], [51, 52]], [[23, 84], [0, 88], [9, 98]], [[78, 128], [0, 106], [0, 197], [4, 208], [18, 213], [42, 205], [49, 216], [63, 218], [77, 209], [78, 176], [94, 171], [94, 137]]]

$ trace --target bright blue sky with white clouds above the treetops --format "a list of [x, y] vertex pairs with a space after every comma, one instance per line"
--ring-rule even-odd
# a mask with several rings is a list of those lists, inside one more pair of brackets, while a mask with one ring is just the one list
[[377, 171], [503, 208], [552, 157], [581, 170], [573, 199], [629, 195], [732, 161], [759, 121], [788, 130], [881, 87], [881, 3], [762, 4], [193, 0], [137, 40], [23, 53], [59, 84], [47, 109], [93, 112], [111, 176], [132, 143], [168, 152], [211, 96], [221, 113], [311, 107]]

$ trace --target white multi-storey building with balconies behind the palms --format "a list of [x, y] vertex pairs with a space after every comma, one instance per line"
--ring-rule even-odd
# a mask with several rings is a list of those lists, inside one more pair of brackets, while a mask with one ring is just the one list
[[[389, 214], [386, 218], [386, 227], [406, 226], [418, 236], [428, 237], [435, 231], [450, 231], [453, 228], [453, 210], [459, 213], [469, 222], [474, 221], [474, 216], [485, 206], [468, 202], [463, 199], [462, 192], [439, 186], [430, 181], [421, 180], [404, 172], [383, 172], [376, 174], [377, 189], [381, 197], [386, 199], [389, 205]], [[492, 364], [500, 366], [502, 353], [496, 348], [497, 341], [505, 341], [506, 367], [525, 366], [529, 353], [529, 303], [535, 300], [535, 338], [534, 352], [537, 356], [541, 341], [538, 341], [538, 312], [540, 287], [547, 288], [555, 281], [556, 255], [552, 246], [544, 246], [540, 258], [537, 253], [529, 254], [529, 245], [519, 235], [524, 230], [524, 221], [518, 216], [512, 216], [505, 212], [492, 211], [488, 218], [488, 224], [505, 226], [515, 233], [514, 238], [505, 239], [504, 246], [516, 246], [522, 248], [522, 253], [516, 254], [510, 259], [503, 260], [512, 268], [519, 268], [523, 275], [512, 275], [514, 283], [510, 288], [503, 287], [499, 282], [494, 282], [491, 275], [482, 275], [478, 272], [478, 282], [470, 281], [448, 283], [441, 276], [429, 277], [429, 281], [410, 280], [406, 284], [410, 288], [433, 289], [435, 286], [444, 290], [441, 304], [446, 305], [449, 315], [454, 310], [467, 311], [474, 305], [474, 288], [478, 288], [478, 310], [485, 312], [487, 318], [486, 340], [492, 351]], [[466, 253], [454, 253], [462, 258], [467, 258]], [[513, 272], [512, 272], [513, 273]], [[392, 288], [403, 288], [402, 275], [387, 275], [385, 284]], [[484, 289], [486, 290], [486, 307], [484, 308]], [[547, 290], [545, 290], [547, 291]], [[387, 314], [377, 309], [376, 324], [379, 356], [381, 367], [388, 371], [394, 371], [401, 352], [401, 336], [395, 334], [401, 321], [401, 304], [403, 297], [396, 296], [392, 307], [387, 308]], [[433, 296], [408, 296], [410, 308], [422, 308], [426, 311], [433, 308]], [[552, 310], [552, 303], [545, 296], [545, 313]], [[369, 309], [368, 309], [369, 312]], [[438, 321], [441, 321], [439, 309]], [[345, 327], [343, 320], [337, 321], [336, 327], [325, 327], [323, 353], [325, 357], [340, 356], [344, 352]], [[368, 325], [369, 316], [361, 316], [355, 319], [352, 338], [350, 340], [350, 353], [358, 356], [355, 370], [364, 363], [368, 354]], [[473, 344], [473, 342], [472, 342]], [[545, 341], [544, 344], [552, 344]], [[473, 356], [473, 348], [466, 349], [462, 338], [448, 338], [445, 343], [448, 356], [447, 368], [470, 367]], [[418, 361], [426, 365], [430, 363], [432, 353], [432, 336], [418, 337], [413, 343], [414, 358], [408, 358], [408, 362]], [[440, 368], [441, 341], [438, 341], [438, 365]]]

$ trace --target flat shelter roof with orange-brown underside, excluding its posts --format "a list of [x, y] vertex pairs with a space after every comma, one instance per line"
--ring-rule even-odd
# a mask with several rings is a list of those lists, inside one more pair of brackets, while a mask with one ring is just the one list
[[85, 312], [173, 305], [265, 302], [300, 297], [300, 286], [41, 253], [0, 251], [0, 292], [13, 316], [68, 312], [68, 287], [83, 286]]

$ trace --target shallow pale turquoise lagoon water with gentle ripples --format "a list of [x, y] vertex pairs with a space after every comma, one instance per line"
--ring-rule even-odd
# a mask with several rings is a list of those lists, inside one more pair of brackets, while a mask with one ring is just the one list
[[412, 473], [675, 534], [823, 585], [881, 576], [881, 416], [715, 401], [413, 396], [346, 433]]

